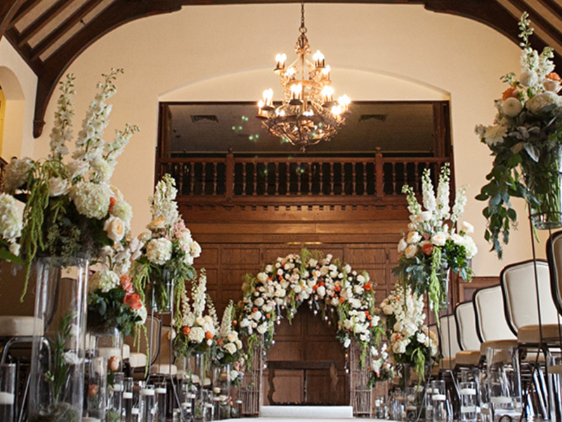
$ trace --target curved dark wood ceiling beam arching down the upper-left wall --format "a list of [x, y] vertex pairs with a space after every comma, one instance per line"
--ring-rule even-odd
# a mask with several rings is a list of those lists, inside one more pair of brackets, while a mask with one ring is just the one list
[[41, 136], [43, 132], [47, 103], [58, 80], [82, 51], [103, 35], [131, 20], [179, 11], [182, 3], [180, 0], [116, 0], [41, 63], [41, 71], [37, 73], [39, 80], [35, 98], [34, 137]]

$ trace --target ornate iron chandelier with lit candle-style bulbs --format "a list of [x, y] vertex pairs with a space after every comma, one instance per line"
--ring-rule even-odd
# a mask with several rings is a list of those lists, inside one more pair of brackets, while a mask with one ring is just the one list
[[[334, 89], [330, 87], [330, 67], [320, 51], [312, 56], [304, 26], [304, 3], [301, 3], [301, 27], [296, 41], [296, 60], [285, 66], [287, 56], [275, 56], [274, 73], [281, 78], [283, 100], [281, 106], [273, 106], [273, 89], [263, 91], [263, 99], [258, 102], [257, 117], [263, 121], [268, 131], [282, 141], [300, 146], [301, 151], [320, 141], [332, 139], [346, 121], [351, 104], [348, 96], [334, 101]], [[308, 79], [305, 79], [308, 71]], [[299, 79], [300, 74], [300, 79]]]

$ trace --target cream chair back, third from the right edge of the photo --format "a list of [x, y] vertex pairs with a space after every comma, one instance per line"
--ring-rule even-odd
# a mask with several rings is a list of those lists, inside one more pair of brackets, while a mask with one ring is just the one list
[[481, 343], [494, 340], [515, 340], [516, 335], [509, 329], [504, 309], [502, 286], [480, 288], [472, 297], [476, 333]]

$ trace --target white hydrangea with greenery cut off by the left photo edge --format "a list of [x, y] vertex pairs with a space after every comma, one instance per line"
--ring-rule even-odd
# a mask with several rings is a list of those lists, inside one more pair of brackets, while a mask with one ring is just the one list
[[18, 239], [22, 226], [22, 215], [15, 198], [0, 193], [0, 260], [21, 262]]

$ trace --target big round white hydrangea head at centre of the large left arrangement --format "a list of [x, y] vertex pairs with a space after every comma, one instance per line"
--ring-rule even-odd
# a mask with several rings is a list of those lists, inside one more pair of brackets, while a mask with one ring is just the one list
[[72, 187], [71, 196], [77, 211], [88, 218], [103, 219], [109, 212], [112, 192], [105, 183], [79, 181]]

